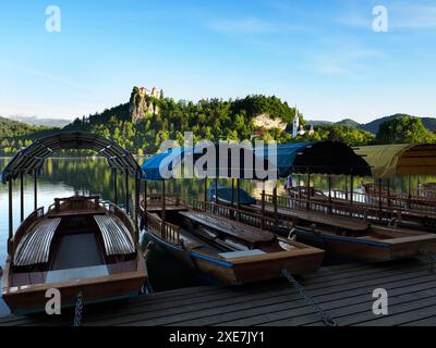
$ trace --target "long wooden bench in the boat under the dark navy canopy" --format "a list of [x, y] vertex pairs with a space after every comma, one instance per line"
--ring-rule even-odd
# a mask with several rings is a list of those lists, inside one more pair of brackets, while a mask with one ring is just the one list
[[[255, 206], [257, 209], [261, 209], [259, 206]], [[271, 204], [265, 204], [265, 210], [268, 213], [274, 213], [274, 207]], [[337, 226], [339, 228], [344, 228], [353, 232], [363, 232], [366, 231], [370, 225], [366, 222], [362, 221], [353, 221], [347, 217], [339, 217], [334, 215], [323, 215], [319, 213], [311, 212], [311, 211], [303, 211], [303, 210], [295, 210], [290, 208], [278, 208], [278, 214], [288, 216], [288, 217], [296, 217], [306, 221], [311, 221], [314, 223], [319, 223], [329, 226]]]

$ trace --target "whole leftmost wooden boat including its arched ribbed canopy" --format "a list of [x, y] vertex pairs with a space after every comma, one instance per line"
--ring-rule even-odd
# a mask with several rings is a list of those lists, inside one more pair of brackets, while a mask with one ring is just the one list
[[[126, 178], [141, 174], [128, 151], [86, 133], [49, 136], [11, 160], [1, 174], [9, 184], [8, 259], [1, 293], [11, 311], [19, 314], [43, 311], [49, 289], [60, 291], [65, 308], [75, 306], [78, 297], [83, 303], [92, 303], [135, 296], [146, 282], [137, 223], [117, 204], [102, 202], [99, 196], [73, 196], [55, 199], [46, 213], [37, 208], [37, 174], [45, 159], [62, 149], [90, 149], [106, 157], [113, 173], [122, 172]], [[26, 219], [25, 174], [35, 178], [35, 211]], [[13, 234], [15, 178], [21, 179], [22, 223]]]

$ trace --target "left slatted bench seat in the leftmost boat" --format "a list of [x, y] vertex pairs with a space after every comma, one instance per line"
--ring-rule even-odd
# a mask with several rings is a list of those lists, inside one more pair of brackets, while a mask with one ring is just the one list
[[25, 266], [47, 263], [50, 245], [61, 217], [45, 219], [32, 227], [16, 247], [14, 265]]

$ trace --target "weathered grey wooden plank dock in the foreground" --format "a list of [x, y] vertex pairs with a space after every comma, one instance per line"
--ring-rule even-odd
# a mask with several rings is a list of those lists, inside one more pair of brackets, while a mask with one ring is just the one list
[[[338, 325], [435, 325], [436, 273], [421, 258], [384, 265], [323, 268], [299, 278]], [[385, 288], [389, 314], [372, 312], [372, 294]], [[0, 318], [1, 325], [71, 325], [61, 316]], [[316, 310], [286, 281], [239, 288], [199, 286], [126, 301], [87, 306], [84, 325], [323, 325]]]

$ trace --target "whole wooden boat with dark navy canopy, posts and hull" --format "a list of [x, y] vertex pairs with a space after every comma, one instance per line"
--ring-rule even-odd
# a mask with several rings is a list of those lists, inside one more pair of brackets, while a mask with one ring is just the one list
[[[277, 163], [280, 176], [290, 173], [366, 176], [370, 165], [351, 148], [337, 141], [301, 144], [278, 147]], [[313, 172], [312, 172], [313, 171]], [[329, 186], [331, 182], [329, 179]], [[238, 196], [238, 195], [237, 195]], [[329, 195], [322, 200], [306, 197], [278, 197], [262, 192], [257, 204], [245, 207], [251, 212], [274, 219], [275, 231], [294, 232], [299, 240], [323, 248], [327, 252], [364, 262], [383, 262], [436, 251], [436, 236], [421, 231], [378, 226], [367, 221], [365, 210], [351, 199], [338, 203]]]

